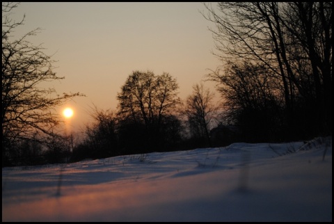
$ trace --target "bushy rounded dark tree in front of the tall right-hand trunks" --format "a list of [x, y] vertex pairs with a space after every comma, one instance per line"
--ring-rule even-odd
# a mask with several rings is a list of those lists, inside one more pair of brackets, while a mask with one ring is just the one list
[[277, 94], [276, 79], [266, 66], [230, 63], [223, 74], [216, 74], [224, 95], [225, 119], [244, 132], [246, 140], [279, 140], [283, 128], [284, 100]]

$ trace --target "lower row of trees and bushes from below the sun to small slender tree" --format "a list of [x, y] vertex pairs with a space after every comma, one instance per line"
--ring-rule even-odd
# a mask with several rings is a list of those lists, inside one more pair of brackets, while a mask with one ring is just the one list
[[62, 163], [210, 147], [209, 130], [219, 109], [214, 94], [200, 83], [182, 102], [178, 89], [176, 79], [166, 72], [134, 71], [118, 93], [118, 110], [92, 108], [94, 122], [86, 125], [80, 140], [70, 134], [49, 136], [39, 143], [16, 141], [10, 147], [10, 161]]

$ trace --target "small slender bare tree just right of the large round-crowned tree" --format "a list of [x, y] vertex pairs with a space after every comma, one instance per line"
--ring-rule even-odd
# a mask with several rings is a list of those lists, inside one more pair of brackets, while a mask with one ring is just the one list
[[210, 125], [217, 118], [219, 104], [214, 102], [214, 93], [205, 88], [204, 83], [193, 86], [193, 93], [186, 99], [184, 114], [193, 136], [205, 139], [211, 147]]

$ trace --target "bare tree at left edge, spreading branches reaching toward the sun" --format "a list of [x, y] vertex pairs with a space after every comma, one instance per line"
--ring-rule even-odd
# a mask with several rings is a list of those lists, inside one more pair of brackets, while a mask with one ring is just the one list
[[23, 25], [13, 22], [10, 13], [18, 3], [2, 3], [2, 156], [11, 143], [22, 139], [42, 141], [43, 135], [52, 135], [59, 124], [59, 115], [54, 110], [67, 99], [81, 96], [80, 93], [56, 94], [54, 88], [42, 88], [42, 83], [64, 79], [52, 71], [49, 56], [43, 48], [34, 46], [26, 39], [36, 35], [39, 29], [14, 39], [13, 32]]

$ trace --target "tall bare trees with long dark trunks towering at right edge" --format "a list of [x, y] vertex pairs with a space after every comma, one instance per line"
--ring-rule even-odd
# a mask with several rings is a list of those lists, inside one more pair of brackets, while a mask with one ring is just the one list
[[[208, 13], [202, 15], [216, 24], [210, 29], [218, 50], [214, 54], [223, 63], [241, 60], [266, 66], [283, 95], [290, 127], [314, 120], [310, 129], [331, 133], [332, 3], [220, 2], [218, 10], [205, 6]], [[296, 123], [301, 111], [308, 115]]]

